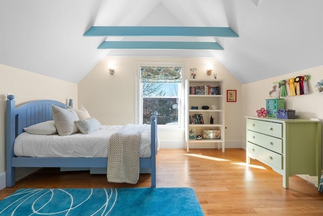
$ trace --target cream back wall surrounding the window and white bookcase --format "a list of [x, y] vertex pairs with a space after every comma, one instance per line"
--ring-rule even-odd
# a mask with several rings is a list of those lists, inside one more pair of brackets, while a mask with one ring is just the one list
[[[237, 102], [226, 103], [226, 147], [241, 147], [242, 86], [215, 58], [105, 57], [79, 83], [79, 105], [83, 105], [101, 124], [135, 123], [138, 62], [183, 63], [184, 78], [189, 78], [190, 68], [197, 68], [198, 79], [213, 79], [213, 75], [206, 75], [208, 65], [213, 65], [212, 74], [217, 73], [217, 78], [225, 79], [223, 91], [237, 90]], [[114, 75], [107, 70], [111, 63], [116, 71]], [[158, 136], [161, 148], [184, 148], [183, 129], [159, 131]]]

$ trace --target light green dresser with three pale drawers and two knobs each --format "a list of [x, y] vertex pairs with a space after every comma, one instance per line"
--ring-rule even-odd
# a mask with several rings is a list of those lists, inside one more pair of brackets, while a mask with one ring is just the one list
[[249, 117], [246, 121], [247, 163], [250, 158], [283, 176], [283, 187], [294, 175], [321, 175], [321, 123], [318, 119]]

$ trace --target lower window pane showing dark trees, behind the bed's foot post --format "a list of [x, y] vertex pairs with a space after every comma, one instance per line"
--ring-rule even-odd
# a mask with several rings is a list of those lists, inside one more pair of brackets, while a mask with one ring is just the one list
[[150, 124], [150, 116], [158, 112], [158, 124], [178, 125], [178, 99], [177, 98], [143, 98], [144, 124]]

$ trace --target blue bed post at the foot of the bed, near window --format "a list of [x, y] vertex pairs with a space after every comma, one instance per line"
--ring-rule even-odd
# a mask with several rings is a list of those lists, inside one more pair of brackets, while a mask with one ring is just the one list
[[154, 112], [154, 115], [150, 117], [150, 126], [151, 126], [151, 187], [156, 187], [156, 157], [157, 154], [157, 112]]

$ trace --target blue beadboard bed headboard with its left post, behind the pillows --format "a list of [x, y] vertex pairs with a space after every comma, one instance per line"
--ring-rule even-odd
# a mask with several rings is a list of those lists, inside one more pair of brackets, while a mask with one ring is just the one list
[[[53, 100], [32, 101], [16, 107], [15, 96], [7, 96], [6, 108], [6, 147], [13, 155], [14, 142], [18, 135], [24, 132], [24, 127], [37, 124], [43, 121], [52, 120], [51, 105], [66, 108], [67, 105]], [[69, 100], [69, 106], [73, 100]], [[7, 155], [8, 152], [7, 152]]]

